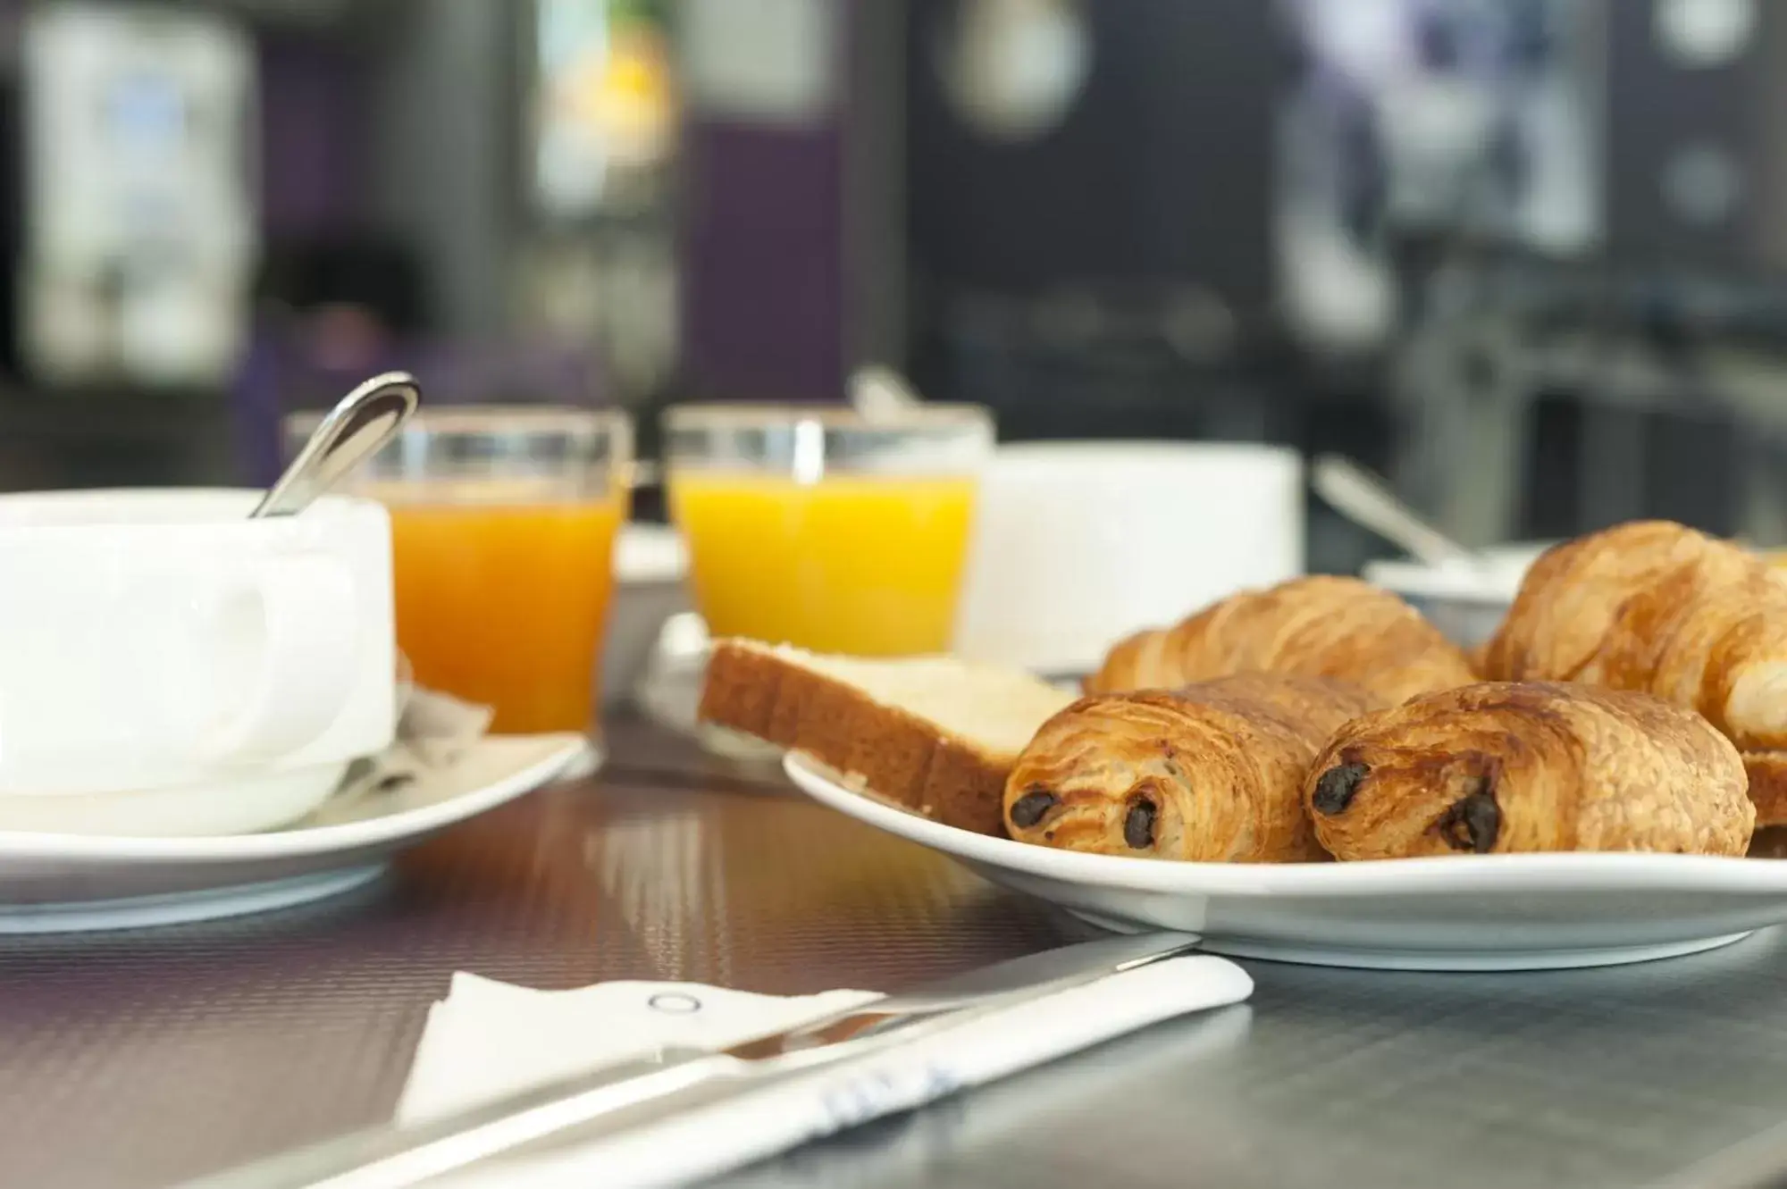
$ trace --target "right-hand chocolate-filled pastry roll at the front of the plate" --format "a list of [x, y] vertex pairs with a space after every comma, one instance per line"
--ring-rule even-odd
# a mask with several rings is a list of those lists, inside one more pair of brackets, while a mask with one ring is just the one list
[[1619, 689], [1485, 682], [1342, 727], [1305, 780], [1337, 859], [1648, 850], [1742, 855], [1744, 764], [1692, 711]]

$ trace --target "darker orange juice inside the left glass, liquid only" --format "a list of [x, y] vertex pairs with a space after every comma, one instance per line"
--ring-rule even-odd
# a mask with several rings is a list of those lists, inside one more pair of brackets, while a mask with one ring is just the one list
[[395, 500], [397, 644], [416, 682], [497, 711], [493, 730], [588, 730], [620, 498]]

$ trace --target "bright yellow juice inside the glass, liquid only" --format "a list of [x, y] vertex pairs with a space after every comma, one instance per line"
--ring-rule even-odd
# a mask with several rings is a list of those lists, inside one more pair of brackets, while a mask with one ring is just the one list
[[976, 480], [688, 470], [670, 505], [715, 636], [888, 657], [945, 652]]

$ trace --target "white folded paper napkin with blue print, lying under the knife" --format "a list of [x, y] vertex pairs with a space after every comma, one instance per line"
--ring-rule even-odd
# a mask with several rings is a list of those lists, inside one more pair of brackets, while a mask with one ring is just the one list
[[[441, 1184], [686, 1184], [1251, 993], [1253, 980], [1233, 962], [1169, 959], [824, 1069], [765, 1080], [650, 1127], [491, 1162]], [[397, 1119], [415, 1123], [668, 1046], [726, 1048], [874, 998], [863, 991], [779, 998], [677, 982], [529, 991], [461, 973], [429, 1012]]]

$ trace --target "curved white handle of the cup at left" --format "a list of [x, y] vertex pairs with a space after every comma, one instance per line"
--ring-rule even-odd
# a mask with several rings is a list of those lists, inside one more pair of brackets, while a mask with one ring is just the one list
[[268, 557], [245, 575], [266, 627], [264, 650], [239, 711], [209, 734], [218, 761], [266, 761], [311, 743], [341, 714], [354, 686], [359, 603], [334, 557]]

